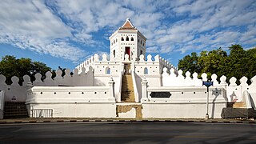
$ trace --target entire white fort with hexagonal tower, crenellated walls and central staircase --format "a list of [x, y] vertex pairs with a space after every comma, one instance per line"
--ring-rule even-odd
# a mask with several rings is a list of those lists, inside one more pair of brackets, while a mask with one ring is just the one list
[[[53, 79], [36, 74], [35, 81], [25, 75], [22, 86], [13, 77], [6, 85], [0, 74], [0, 118], [6, 103], [25, 102], [28, 115], [33, 118], [221, 118], [222, 110], [233, 107], [255, 108], [256, 77], [248, 85], [247, 78], [226, 77], [209, 90], [206, 105], [207, 75], [186, 72], [167, 62], [159, 55], [146, 56], [146, 37], [127, 18], [126, 22], [110, 36], [110, 57], [94, 54], [73, 70], [57, 70]], [[207, 108], [206, 108], [207, 107]]]

